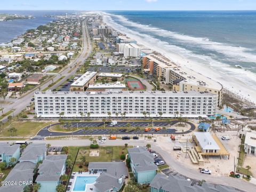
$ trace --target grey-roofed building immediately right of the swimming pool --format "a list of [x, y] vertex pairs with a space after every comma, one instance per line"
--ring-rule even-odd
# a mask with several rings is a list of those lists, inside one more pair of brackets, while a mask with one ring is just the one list
[[98, 192], [119, 191], [128, 177], [124, 162], [90, 162], [88, 171], [101, 172], [94, 184]]

